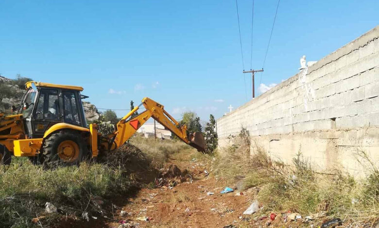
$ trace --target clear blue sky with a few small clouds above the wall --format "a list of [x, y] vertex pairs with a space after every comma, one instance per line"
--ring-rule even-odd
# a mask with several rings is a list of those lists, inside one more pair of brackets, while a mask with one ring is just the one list
[[[234, 0], [2, 0], [0, 74], [81, 85], [99, 108], [150, 97], [175, 118], [217, 118], [251, 98], [243, 75]], [[245, 70], [252, 0], [239, 0]], [[253, 68], [261, 68], [276, 0], [255, 0]], [[281, 0], [264, 66], [265, 85], [298, 72], [379, 24], [378, 0]], [[246, 80], [246, 86], [244, 82]], [[247, 93], [247, 96], [246, 96]], [[119, 116], [127, 111], [117, 111]]]

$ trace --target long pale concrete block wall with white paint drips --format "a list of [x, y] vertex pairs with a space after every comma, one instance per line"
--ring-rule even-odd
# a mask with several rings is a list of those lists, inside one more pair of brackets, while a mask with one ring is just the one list
[[241, 126], [285, 162], [301, 148], [320, 169], [362, 174], [354, 151], [379, 159], [379, 26], [219, 118], [220, 146]]

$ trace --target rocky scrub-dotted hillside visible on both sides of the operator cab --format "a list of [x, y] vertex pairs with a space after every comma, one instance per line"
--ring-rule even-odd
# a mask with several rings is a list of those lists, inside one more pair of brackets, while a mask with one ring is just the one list
[[[17, 75], [16, 79], [9, 79], [0, 76], [0, 113], [10, 114], [12, 105], [18, 105], [21, 102], [24, 93], [25, 82], [33, 81], [30, 78]], [[84, 112], [88, 122], [97, 120], [100, 116], [95, 105], [83, 101]]]

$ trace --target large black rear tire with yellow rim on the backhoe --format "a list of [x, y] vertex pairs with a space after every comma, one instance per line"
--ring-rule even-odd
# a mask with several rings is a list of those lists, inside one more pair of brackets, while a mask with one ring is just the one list
[[[69, 156], [66, 156], [66, 154], [62, 152], [65, 150], [65, 145], [67, 144], [69, 145], [67, 146], [69, 148], [76, 147], [76, 149], [70, 149], [71, 152], [75, 151], [73, 152], [75, 155], [71, 156], [71, 153]], [[42, 154], [44, 164], [50, 167], [54, 165], [79, 165], [80, 162], [86, 159], [88, 148], [78, 132], [72, 130], [60, 130], [51, 134], [45, 140]]]

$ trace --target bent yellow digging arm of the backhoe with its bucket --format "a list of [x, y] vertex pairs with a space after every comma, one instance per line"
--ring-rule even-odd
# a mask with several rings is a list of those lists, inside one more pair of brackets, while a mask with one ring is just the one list
[[[142, 105], [146, 110], [137, 116], [131, 117]], [[163, 105], [150, 98], [143, 98], [139, 106], [131, 110], [117, 123], [117, 130], [106, 136], [106, 138], [111, 141], [109, 149], [114, 150], [121, 147], [150, 117], [153, 117], [189, 146], [196, 148], [198, 151], [205, 151], [205, 140], [201, 132], [188, 132], [186, 125], [180, 126], [180, 124], [164, 110]]]

